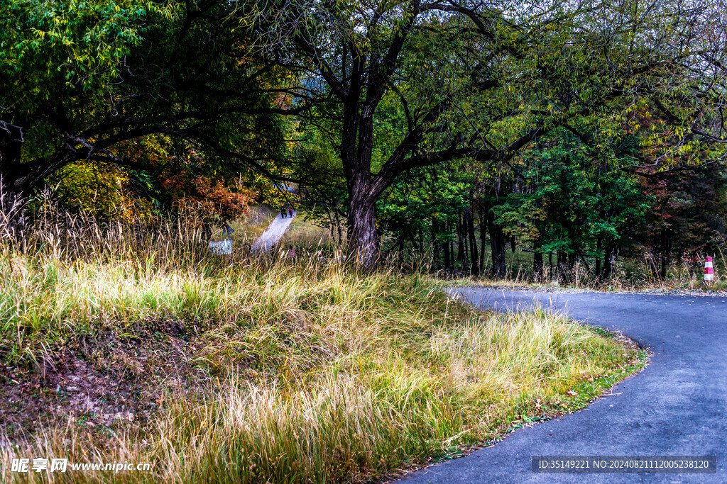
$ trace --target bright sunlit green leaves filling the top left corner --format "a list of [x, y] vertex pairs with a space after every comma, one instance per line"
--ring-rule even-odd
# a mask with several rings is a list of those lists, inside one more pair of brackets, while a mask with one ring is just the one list
[[52, 149], [57, 129], [71, 136], [79, 112], [89, 122], [108, 110], [111, 83], [141, 44], [149, 17], [171, 14], [148, 0], [2, 2], [0, 118], [25, 129], [26, 158], [46, 153], [44, 144]]

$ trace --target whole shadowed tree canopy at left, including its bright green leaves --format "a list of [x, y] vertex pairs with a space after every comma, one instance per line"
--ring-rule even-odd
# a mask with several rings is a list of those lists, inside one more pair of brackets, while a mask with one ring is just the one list
[[[193, 178], [275, 169], [268, 160], [285, 152], [279, 140], [289, 124], [269, 111], [286, 100], [260, 86], [281, 70], [261, 74], [249, 60], [235, 9], [193, 4], [4, 2], [0, 121], [14, 130], [0, 131], [4, 183], [32, 192], [69, 163], [113, 163], [161, 200], [155, 179], [172, 158]], [[134, 143], [149, 153], [128, 149]]]

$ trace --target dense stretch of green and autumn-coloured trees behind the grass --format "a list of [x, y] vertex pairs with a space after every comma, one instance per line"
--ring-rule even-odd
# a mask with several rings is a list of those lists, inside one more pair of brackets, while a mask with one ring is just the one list
[[724, 7], [5, 1], [0, 201], [228, 221], [265, 180], [364, 268], [664, 279], [727, 232]]

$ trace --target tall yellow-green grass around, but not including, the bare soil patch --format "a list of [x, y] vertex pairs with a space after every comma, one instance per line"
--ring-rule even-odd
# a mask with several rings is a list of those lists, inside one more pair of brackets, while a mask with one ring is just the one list
[[[587, 401], [613, 381], [599, 376], [624, 374], [637, 355], [550, 313], [474, 311], [423, 274], [213, 257], [182, 221], [38, 214], [0, 259], [6, 364], [42, 366], [68, 338], [166, 318], [196, 328], [209, 379], [197, 398], [161, 388], [168, 398], [153, 419], [104, 438], [73, 419], [5, 436], [7, 479], [375, 480], [561, 409], [571, 389]], [[12, 459], [39, 456], [153, 468], [7, 473]]]

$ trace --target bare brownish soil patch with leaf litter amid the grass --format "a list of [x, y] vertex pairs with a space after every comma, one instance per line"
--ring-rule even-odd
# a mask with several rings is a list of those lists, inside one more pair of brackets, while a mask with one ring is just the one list
[[9, 436], [48, 422], [107, 432], [143, 424], [165, 398], [201, 393], [209, 374], [196, 364], [197, 340], [180, 321], [143, 321], [124, 334], [73, 337], [36, 364], [3, 365], [0, 420]]

